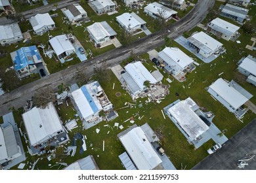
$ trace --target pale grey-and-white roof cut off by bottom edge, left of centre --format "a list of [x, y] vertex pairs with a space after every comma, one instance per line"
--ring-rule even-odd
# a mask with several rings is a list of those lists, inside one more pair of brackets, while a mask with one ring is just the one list
[[93, 156], [90, 155], [68, 165], [64, 170], [98, 170], [98, 166], [96, 165]]

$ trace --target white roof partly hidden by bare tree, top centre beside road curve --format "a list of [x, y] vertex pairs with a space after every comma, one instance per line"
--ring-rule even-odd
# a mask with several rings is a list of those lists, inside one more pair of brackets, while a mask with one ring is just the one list
[[169, 18], [173, 14], [177, 14], [177, 11], [167, 8], [156, 2], [148, 4], [146, 7], [144, 7], [144, 9], [153, 12], [154, 14], [159, 14], [159, 12], [163, 12], [163, 18], [165, 19]]

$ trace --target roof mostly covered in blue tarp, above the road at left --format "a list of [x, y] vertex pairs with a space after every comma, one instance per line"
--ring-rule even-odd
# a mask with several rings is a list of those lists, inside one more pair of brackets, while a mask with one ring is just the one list
[[[12, 52], [11, 55], [12, 62], [14, 63], [14, 69], [16, 71], [26, 67], [27, 65], [41, 62], [41, 57], [35, 46], [22, 47], [16, 50], [16, 52]], [[36, 56], [37, 61], [34, 60], [33, 56]]]

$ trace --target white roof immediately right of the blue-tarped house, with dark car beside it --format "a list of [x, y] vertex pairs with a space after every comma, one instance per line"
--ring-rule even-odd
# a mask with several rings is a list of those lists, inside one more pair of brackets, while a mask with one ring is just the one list
[[56, 55], [59, 56], [63, 52], [74, 50], [75, 48], [72, 43], [68, 40], [66, 35], [57, 35], [53, 39], [50, 39], [50, 44], [53, 47], [54, 52]]

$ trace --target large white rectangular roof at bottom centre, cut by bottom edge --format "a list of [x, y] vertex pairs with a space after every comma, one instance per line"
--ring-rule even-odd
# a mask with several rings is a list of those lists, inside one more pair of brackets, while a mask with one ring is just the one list
[[119, 139], [137, 169], [152, 170], [162, 162], [140, 127], [131, 129]]

